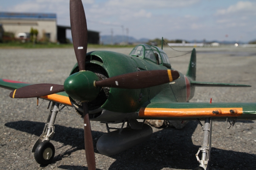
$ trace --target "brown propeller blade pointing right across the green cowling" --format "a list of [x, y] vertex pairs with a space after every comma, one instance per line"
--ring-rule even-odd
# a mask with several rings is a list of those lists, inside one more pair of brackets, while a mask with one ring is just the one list
[[96, 81], [96, 87], [140, 89], [172, 82], [180, 77], [175, 70], [138, 71]]

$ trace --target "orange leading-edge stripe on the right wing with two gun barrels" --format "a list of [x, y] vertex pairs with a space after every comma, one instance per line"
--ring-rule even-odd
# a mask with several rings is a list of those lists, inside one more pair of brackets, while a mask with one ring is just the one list
[[[236, 109], [235, 114], [230, 110]], [[218, 110], [219, 114], [213, 114], [212, 111]], [[140, 108], [140, 117], [234, 117], [243, 114], [242, 107], [233, 108]]]

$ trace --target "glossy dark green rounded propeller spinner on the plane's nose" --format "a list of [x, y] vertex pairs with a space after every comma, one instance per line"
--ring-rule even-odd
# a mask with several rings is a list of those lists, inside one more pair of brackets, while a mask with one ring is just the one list
[[98, 77], [92, 71], [79, 71], [70, 75], [64, 82], [65, 92], [75, 100], [88, 102], [100, 93], [100, 88], [93, 85]]

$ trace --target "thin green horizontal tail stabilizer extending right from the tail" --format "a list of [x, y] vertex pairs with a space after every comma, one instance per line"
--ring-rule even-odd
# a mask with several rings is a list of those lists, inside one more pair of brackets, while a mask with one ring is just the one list
[[211, 83], [211, 82], [200, 82], [191, 81], [191, 85], [199, 87], [252, 87], [251, 85], [240, 85], [240, 84], [230, 84], [230, 83]]

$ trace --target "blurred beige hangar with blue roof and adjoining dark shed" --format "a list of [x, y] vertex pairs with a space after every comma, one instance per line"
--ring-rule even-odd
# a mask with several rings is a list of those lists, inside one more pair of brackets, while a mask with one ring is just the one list
[[[70, 26], [58, 26], [54, 13], [14, 13], [0, 12], [0, 25], [5, 32], [29, 33], [30, 29], [38, 30], [38, 39], [47, 37], [51, 42], [66, 43], [66, 29]], [[88, 30], [88, 43], [99, 44], [100, 33]]]

